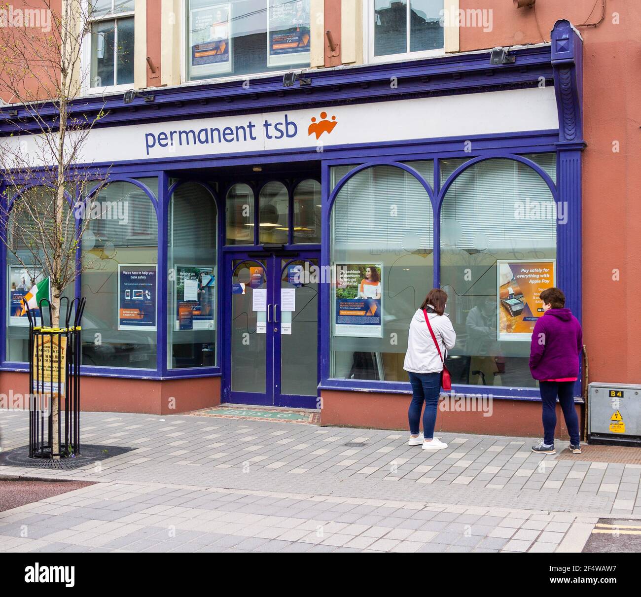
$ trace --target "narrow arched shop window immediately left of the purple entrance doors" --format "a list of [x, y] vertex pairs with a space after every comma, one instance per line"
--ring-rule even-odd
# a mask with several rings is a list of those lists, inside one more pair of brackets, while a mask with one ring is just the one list
[[198, 183], [181, 184], [169, 204], [167, 367], [216, 364], [216, 204]]

